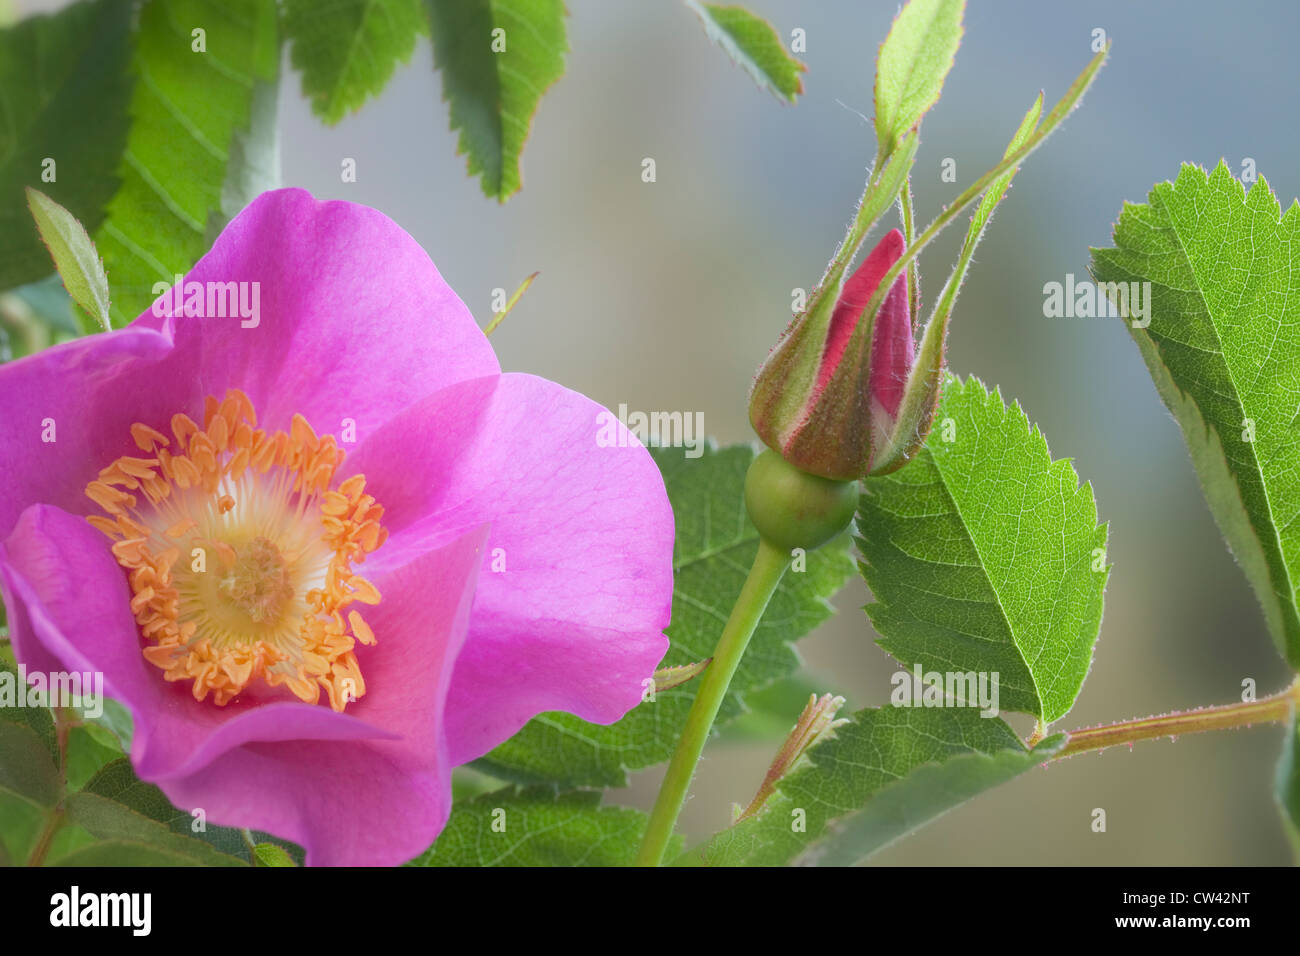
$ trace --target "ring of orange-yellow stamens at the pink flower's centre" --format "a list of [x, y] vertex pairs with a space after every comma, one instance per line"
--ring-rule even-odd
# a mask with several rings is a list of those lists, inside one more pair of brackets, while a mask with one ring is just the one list
[[356, 643], [374, 643], [350, 605], [380, 602], [352, 563], [387, 538], [365, 477], [332, 489], [334, 438], [302, 415], [268, 433], [234, 389], [207, 399], [203, 428], [178, 414], [172, 433], [131, 425], [151, 457], [118, 458], [86, 486], [104, 511], [87, 520], [130, 571], [144, 658], [192, 682], [195, 700], [225, 705], [260, 683], [308, 704], [324, 689], [343, 710], [365, 693]]

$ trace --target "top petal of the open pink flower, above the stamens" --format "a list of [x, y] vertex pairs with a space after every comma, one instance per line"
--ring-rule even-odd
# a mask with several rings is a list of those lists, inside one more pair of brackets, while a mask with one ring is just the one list
[[[302, 412], [318, 432], [352, 419], [358, 434], [438, 389], [500, 371], [429, 255], [384, 213], [263, 193], [185, 278], [259, 282], [260, 321], [166, 319], [192, 395], [248, 393], [274, 428]], [[202, 405], [200, 405], [202, 407]]]

